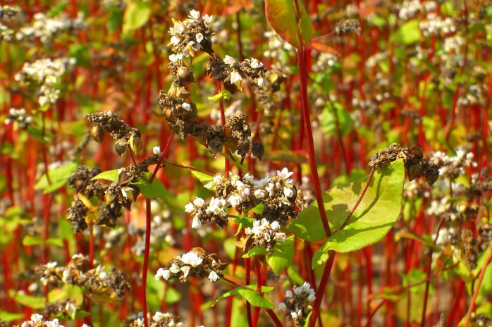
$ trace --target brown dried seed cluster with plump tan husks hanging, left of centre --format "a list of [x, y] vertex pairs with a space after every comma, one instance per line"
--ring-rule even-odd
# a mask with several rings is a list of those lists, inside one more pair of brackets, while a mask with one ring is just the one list
[[109, 110], [90, 113], [85, 116], [85, 120], [88, 123], [95, 124], [90, 130], [90, 135], [94, 141], [101, 143], [104, 138], [104, 131], [106, 131], [116, 140], [114, 149], [119, 156], [123, 156], [128, 151], [128, 148], [131, 149], [135, 156], [140, 154], [142, 150], [140, 130], [131, 128], [123, 121], [118, 120], [116, 113], [112, 113]]

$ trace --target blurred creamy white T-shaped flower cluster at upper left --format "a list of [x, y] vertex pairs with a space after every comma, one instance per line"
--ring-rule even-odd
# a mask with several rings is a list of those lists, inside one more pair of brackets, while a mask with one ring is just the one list
[[14, 78], [21, 84], [39, 86], [36, 94], [40, 106], [54, 104], [60, 97], [61, 78], [75, 62], [75, 58], [38, 59], [34, 63], [24, 63]]

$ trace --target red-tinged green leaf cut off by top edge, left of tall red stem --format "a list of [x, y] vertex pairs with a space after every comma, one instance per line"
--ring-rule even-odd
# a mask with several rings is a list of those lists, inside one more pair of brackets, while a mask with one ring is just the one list
[[265, 0], [265, 15], [269, 25], [281, 39], [297, 49], [301, 48], [293, 0]]

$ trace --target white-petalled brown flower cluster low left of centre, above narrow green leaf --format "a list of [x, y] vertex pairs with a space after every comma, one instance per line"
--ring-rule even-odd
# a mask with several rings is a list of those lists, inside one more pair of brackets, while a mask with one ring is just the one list
[[154, 279], [179, 279], [185, 282], [188, 277], [200, 277], [215, 282], [221, 278], [221, 271], [226, 264], [214, 257], [215, 254], [207, 254], [201, 247], [194, 247], [190, 252], [177, 256], [164, 268], [159, 268]]

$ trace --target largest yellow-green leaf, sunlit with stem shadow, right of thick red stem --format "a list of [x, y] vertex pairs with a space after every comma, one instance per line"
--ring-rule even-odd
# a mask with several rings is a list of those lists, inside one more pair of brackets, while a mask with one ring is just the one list
[[[404, 182], [405, 168], [402, 160], [386, 164], [376, 171], [347, 225], [328, 237], [314, 254], [313, 263], [328, 250], [352, 252], [381, 240], [400, 215]], [[366, 178], [349, 185], [333, 187], [325, 193], [326, 214], [334, 228], [338, 229], [343, 225], [365, 184]]]

